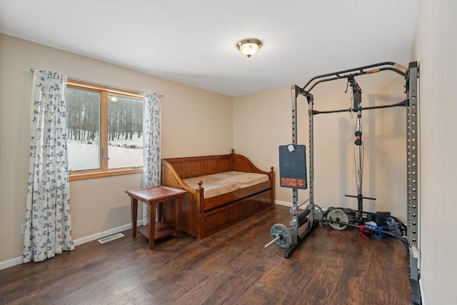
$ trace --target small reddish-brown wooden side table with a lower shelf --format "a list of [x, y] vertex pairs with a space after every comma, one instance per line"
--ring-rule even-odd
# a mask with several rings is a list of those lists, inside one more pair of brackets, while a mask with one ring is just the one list
[[[176, 238], [181, 237], [181, 214], [183, 210], [183, 199], [187, 191], [174, 189], [168, 186], [153, 186], [144, 189], [134, 189], [126, 191], [131, 197], [131, 226], [132, 236], [136, 237], [136, 232], [149, 239], [149, 249], [154, 249], [154, 241], [165, 236], [176, 233]], [[147, 226], [136, 228], [138, 216], [138, 201], [149, 204], [149, 215]], [[161, 204], [164, 202], [174, 202], [176, 204], [176, 226], [170, 226], [161, 221]], [[159, 221], [156, 222], [156, 204], [159, 204]]]

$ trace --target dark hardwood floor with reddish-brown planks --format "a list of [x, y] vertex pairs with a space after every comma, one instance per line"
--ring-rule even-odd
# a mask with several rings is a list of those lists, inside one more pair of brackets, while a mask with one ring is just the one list
[[2, 304], [411, 304], [405, 246], [319, 224], [291, 259], [271, 240], [276, 206], [196, 241], [143, 236], [77, 246], [0, 271]]

